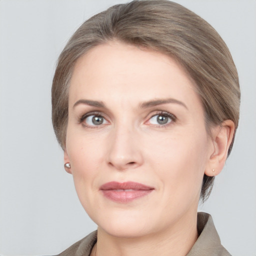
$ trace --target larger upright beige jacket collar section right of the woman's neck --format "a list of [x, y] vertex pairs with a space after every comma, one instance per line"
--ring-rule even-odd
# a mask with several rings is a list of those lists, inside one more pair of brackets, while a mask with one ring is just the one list
[[186, 256], [231, 256], [222, 246], [210, 214], [197, 213], [197, 230], [199, 236]]

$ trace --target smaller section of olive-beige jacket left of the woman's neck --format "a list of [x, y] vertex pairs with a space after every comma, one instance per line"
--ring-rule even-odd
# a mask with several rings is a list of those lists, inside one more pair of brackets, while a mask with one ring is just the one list
[[97, 231], [93, 231], [55, 256], [89, 256], [96, 241]]

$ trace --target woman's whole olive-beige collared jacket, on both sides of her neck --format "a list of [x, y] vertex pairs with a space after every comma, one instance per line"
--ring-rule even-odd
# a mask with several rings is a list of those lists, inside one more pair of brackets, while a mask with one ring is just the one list
[[[208, 213], [198, 212], [197, 230], [199, 237], [186, 256], [231, 256], [221, 245]], [[56, 256], [89, 256], [96, 241], [97, 231], [94, 231]]]

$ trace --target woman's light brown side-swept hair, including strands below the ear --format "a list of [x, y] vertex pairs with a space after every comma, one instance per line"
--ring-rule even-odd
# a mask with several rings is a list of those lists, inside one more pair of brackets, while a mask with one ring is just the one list
[[[230, 52], [215, 29], [185, 7], [167, 0], [140, 0], [117, 4], [86, 20], [61, 52], [52, 82], [52, 123], [65, 148], [68, 86], [76, 60], [92, 47], [118, 40], [160, 51], [178, 61], [195, 81], [204, 107], [205, 125], [239, 119], [238, 75]], [[231, 151], [232, 143], [228, 149]], [[214, 177], [204, 174], [205, 200]]]

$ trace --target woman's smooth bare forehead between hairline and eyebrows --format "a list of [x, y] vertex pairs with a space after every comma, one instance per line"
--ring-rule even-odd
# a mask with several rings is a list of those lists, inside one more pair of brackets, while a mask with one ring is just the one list
[[72, 73], [70, 101], [80, 97], [101, 101], [137, 103], [172, 97], [200, 101], [195, 84], [172, 58], [134, 45], [109, 42], [80, 57]]

